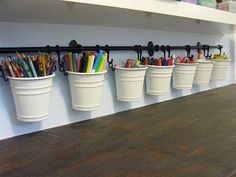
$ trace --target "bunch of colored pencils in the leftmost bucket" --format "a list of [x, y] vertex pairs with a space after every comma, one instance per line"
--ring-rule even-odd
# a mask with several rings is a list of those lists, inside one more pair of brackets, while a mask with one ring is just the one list
[[8, 56], [2, 60], [2, 69], [9, 77], [43, 77], [53, 74], [56, 60], [56, 55], [48, 53], [38, 55], [17, 53], [16, 57]]

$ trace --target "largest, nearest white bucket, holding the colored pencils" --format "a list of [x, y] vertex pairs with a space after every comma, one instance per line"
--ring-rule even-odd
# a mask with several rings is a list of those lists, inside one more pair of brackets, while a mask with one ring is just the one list
[[48, 117], [54, 76], [55, 74], [36, 78], [9, 77], [19, 120], [36, 122]]

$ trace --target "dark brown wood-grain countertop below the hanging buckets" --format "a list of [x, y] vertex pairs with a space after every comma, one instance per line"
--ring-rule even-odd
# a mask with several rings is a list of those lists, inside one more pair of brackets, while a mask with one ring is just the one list
[[0, 177], [232, 177], [235, 169], [236, 85], [0, 141]]

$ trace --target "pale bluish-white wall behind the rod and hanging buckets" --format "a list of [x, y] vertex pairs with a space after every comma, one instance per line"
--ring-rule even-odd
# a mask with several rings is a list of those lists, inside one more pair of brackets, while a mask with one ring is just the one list
[[[0, 22], [0, 47], [20, 46], [68, 46], [70, 40], [75, 39], [82, 45], [147, 45], [149, 40], [155, 44], [163, 45], [196, 45], [221, 44], [224, 51], [232, 56], [232, 36], [207, 35], [197, 33], [180, 33], [171, 31], [142, 30], [134, 28], [114, 28], [79, 25], [57, 24], [33, 24]], [[212, 51], [213, 52], [213, 51]], [[218, 52], [215, 50], [214, 52]], [[185, 52], [175, 52], [177, 55], [185, 55]], [[195, 53], [194, 53], [195, 54]], [[162, 55], [158, 53], [155, 55]], [[135, 52], [111, 52], [115, 63], [124, 62], [128, 57], [135, 58]], [[109, 71], [105, 77], [104, 97], [99, 110], [92, 112], [79, 112], [71, 108], [71, 99], [67, 77], [57, 72], [54, 79], [51, 114], [49, 118], [38, 123], [24, 123], [16, 120], [13, 98], [10, 92], [9, 82], [0, 80], [0, 139], [13, 137], [21, 134], [57, 127], [72, 122], [96, 118], [115, 112], [133, 109], [144, 105], [174, 99], [184, 95], [197, 93], [212, 88], [233, 83], [233, 71], [230, 68], [227, 80], [219, 83], [211, 83], [209, 86], [194, 86], [191, 91], [171, 89], [166, 96], [149, 96], [145, 92], [144, 98], [135, 103], [123, 103], [116, 100], [114, 73]], [[204, 101], [204, 100], [203, 100]], [[158, 117], [158, 110], [157, 110]], [[135, 121], [135, 120], [134, 120]]]

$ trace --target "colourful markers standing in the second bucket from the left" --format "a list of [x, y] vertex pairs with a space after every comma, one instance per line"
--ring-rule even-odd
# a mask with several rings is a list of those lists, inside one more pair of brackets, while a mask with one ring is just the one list
[[106, 70], [107, 53], [100, 50], [96, 52], [68, 53], [63, 57], [67, 71], [79, 73], [97, 73]]

